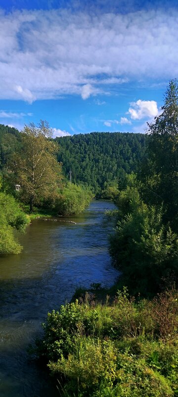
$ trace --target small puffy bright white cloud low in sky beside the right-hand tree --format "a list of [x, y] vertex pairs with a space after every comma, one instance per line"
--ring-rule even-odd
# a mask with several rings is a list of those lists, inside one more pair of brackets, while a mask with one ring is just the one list
[[154, 118], [159, 114], [155, 100], [141, 100], [132, 102], [129, 112], [132, 120], [141, 120], [145, 117]]

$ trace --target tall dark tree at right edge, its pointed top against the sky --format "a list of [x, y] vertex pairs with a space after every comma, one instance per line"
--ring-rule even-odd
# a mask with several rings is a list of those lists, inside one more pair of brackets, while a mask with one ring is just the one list
[[[145, 198], [164, 202], [167, 221], [178, 218], [178, 82], [171, 80], [160, 115], [148, 124], [147, 163], [144, 165]], [[146, 182], [146, 183], [145, 183]]]

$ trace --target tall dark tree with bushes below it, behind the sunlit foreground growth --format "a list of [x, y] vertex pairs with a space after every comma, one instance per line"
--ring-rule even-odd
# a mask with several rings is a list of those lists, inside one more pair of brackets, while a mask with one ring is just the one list
[[171, 81], [161, 114], [148, 124], [145, 160], [137, 178], [115, 196], [117, 225], [110, 253], [121, 283], [155, 294], [178, 285], [178, 83]]

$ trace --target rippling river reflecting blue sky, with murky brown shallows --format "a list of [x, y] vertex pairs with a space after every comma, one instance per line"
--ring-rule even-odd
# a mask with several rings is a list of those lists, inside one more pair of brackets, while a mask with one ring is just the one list
[[69, 301], [76, 287], [116, 280], [107, 242], [112, 225], [103, 216], [113, 208], [92, 201], [81, 215], [34, 220], [18, 236], [22, 253], [0, 257], [0, 397], [59, 396], [27, 347], [47, 312]]

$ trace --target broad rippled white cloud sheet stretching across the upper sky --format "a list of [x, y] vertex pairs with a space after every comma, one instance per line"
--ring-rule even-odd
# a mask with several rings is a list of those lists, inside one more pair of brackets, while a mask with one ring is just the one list
[[[178, 10], [0, 12], [0, 99], [117, 93], [178, 75]], [[133, 106], [131, 108], [134, 108]], [[135, 113], [133, 113], [135, 115]]]

